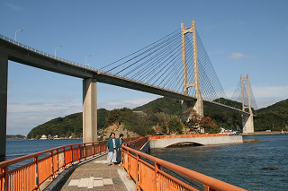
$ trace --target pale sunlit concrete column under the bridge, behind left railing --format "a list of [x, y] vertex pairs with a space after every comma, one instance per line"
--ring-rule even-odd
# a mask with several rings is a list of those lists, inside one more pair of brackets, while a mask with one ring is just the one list
[[97, 141], [97, 82], [83, 80], [83, 143]]

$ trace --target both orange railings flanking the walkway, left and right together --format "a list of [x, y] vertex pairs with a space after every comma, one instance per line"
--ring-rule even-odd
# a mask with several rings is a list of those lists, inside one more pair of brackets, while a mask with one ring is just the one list
[[[122, 167], [135, 180], [139, 190], [244, 190], [139, 152], [152, 137], [156, 138], [127, 138], [122, 146]], [[37, 190], [45, 180], [55, 178], [60, 169], [106, 152], [105, 143], [70, 144], [0, 162], [0, 190]], [[20, 166], [21, 162], [26, 163]], [[12, 169], [13, 165], [20, 167]]]

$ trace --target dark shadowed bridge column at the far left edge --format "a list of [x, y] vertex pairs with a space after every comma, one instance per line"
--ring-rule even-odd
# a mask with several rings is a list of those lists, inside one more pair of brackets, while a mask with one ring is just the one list
[[0, 157], [6, 154], [8, 57], [0, 55]]

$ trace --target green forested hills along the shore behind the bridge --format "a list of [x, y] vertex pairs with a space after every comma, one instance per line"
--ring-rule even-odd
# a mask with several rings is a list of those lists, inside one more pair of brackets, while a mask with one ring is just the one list
[[[219, 99], [220, 103], [241, 108], [241, 103], [233, 100]], [[132, 111], [143, 111], [147, 114], [145, 118], [138, 117]], [[283, 100], [265, 109], [258, 109], [255, 117], [255, 131], [286, 130], [288, 125], [288, 100]], [[167, 123], [173, 116], [180, 118], [181, 101], [169, 98], [159, 98], [136, 109], [98, 109], [98, 129], [112, 125], [112, 123], [123, 123], [131, 131], [139, 135], [153, 134], [151, 126], [162, 126], [166, 129]], [[241, 116], [237, 113], [215, 109], [204, 106], [204, 116], [218, 125], [227, 129], [240, 129]], [[172, 120], [172, 119], [171, 119]], [[287, 129], [288, 130], [288, 129]], [[164, 132], [165, 133], [165, 132]], [[58, 135], [82, 137], [82, 113], [71, 114], [67, 117], [58, 117], [37, 126], [28, 134], [28, 138], [40, 138], [41, 135]]]

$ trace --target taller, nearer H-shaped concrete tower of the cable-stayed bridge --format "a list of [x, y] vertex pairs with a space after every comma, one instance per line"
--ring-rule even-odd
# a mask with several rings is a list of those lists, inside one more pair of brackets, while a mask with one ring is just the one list
[[[192, 33], [193, 35], [193, 66], [194, 66], [194, 82], [189, 83], [187, 79], [187, 64], [186, 64], [186, 49], [185, 49], [185, 34]], [[196, 25], [195, 21], [192, 21], [190, 28], [184, 28], [184, 22], [181, 22], [181, 38], [182, 38], [182, 63], [183, 63], [183, 93], [188, 94], [188, 88], [194, 87], [196, 92], [195, 101], [182, 100], [182, 117], [184, 111], [193, 108], [197, 114], [203, 116], [203, 100], [202, 93], [199, 85], [199, 70], [198, 70], [198, 54], [197, 54], [197, 42], [196, 42]]]

